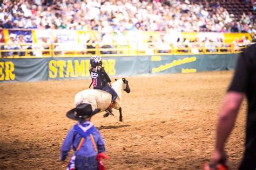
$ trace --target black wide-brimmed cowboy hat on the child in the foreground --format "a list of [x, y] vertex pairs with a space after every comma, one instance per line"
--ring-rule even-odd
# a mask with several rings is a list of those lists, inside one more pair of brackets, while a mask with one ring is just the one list
[[100, 109], [92, 110], [91, 104], [81, 103], [76, 108], [71, 109], [66, 113], [66, 117], [75, 121], [83, 121], [93, 115], [97, 114]]

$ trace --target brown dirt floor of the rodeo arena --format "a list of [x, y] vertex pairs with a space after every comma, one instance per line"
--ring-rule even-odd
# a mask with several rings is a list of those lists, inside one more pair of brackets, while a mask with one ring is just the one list
[[[107, 169], [201, 169], [210, 160], [215, 121], [233, 72], [126, 77], [123, 122], [92, 118], [105, 140]], [[1, 83], [0, 169], [65, 169], [60, 146], [75, 124], [65, 117], [90, 80]], [[243, 152], [246, 102], [226, 145], [231, 169]], [[72, 153], [72, 152], [71, 152]]]

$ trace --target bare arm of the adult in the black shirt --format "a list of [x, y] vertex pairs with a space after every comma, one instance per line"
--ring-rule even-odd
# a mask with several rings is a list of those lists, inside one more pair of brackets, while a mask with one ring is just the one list
[[215, 143], [215, 151], [212, 156], [212, 163], [215, 165], [221, 161], [226, 161], [224, 144], [234, 127], [244, 96], [244, 93], [235, 91], [230, 91], [225, 96], [219, 112], [216, 133], [217, 139]]

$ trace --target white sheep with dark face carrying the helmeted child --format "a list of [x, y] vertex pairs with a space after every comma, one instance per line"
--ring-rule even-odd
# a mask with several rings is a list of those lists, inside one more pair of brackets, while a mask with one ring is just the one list
[[[126, 93], [130, 93], [130, 87], [128, 84], [128, 81], [123, 79], [116, 79], [116, 82], [112, 83], [112, 87], [114, 90], [116, 90], [117, 93], [117, 99], [114, 103], [113, 109], [119, 110], [119, 121], [123, 121], [122, 116], [122, 90], [126, 91]], [[100, 109], [100, 112], [105, 111], [110, 103], [111, 103], [112, 95], [110, 93], [107, 93], [103, 90], [97, 90], [97, 89], [86, 89], [83, 91], [80, 91], [75, 96], [75, 106], [77, 106], [80, 103], [87, 103], [91, 104], [92, 110]], [[104, 117], [109, 116], [109, 114], [105, 114]]]

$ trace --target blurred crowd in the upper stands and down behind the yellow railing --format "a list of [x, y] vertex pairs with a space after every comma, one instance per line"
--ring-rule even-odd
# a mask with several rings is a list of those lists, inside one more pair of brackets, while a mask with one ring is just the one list
[[[146, 41], [136, 44], [136, 39], [142, 39], [128, 34], [126, 38], [131, 45], [139, 48], [140, 51], [156, 48], [156, 43], [160, 52], [170, 52], [172, 48], [191, 47], [198, 53], [199, 45], [188, 45], [188, 42], [203, 42], [210, 51], [217, 51], [217, 47], [223, 45], [223, 37], [202, 36], [203, 38], [183, 39], [178, 36], [180, 32], [215, 32], [229, 33], [242, 32], [250, 33], [251, 37], [243, 36], [235, 38], [233, 41], [234, 51], [239, 51], [239, 46], [245, 46], [252, 41], [256, 41], [256, 1], [253, 0], [226, 0], [226, 1], [206, 1], [206, 0], [0, 0], [0, 29], [37, 29], [37, 30], [78, 30], [97, 31], [99, 36], [85, 38], [86, 45], [70, 45], [52, 47], [60, 50], [72, 48], [78, 51], [95, 48], [99, 44], [100, 48], [114, 48], [113, 42], [119, 44], [125, 40], [122, 37], [125, 31], [156, 31], [163, 32], [161, 37], [149, 36]], [[115, 36], [112, 33], [120, 34]], [[208, 35], [208, 34], [207, 34]], [[26, 36], [25, 36], [26, 37]], [[62, 42], [58, 38], [53, 40], [45, 37], [39, 38], [40, 46], [15, 45], [24, 42], [22, 36], [11, 34], [5, 46], [1, 49], [49, 49], [49, 43]], [[41, 41], [40, 41], [41, 40]], [[132, 43], [136, 42], [136, 43]], [[145, 45], [144, 42], [149, 44]], [[183, 43], [176, 45], [177, 42]], [[220, 43], [212, 45], [212, 42]], [[151, 44], [150, 44], [151, 43]], [[172, 46], [170, 46], [172, 44]], [[45, 47], [46, 46], [46, 47]], [[229, 45], [231, 46], [231, 45]], [[186, 50], [183, 50], [187, 52]], [[222, 50], [226, 51], [226, 49]], [[95, 54], [95, 52], [87, 52]], [[112, 52], [102, 52], [109, 54]], [[152, 54], [150, 52], [149, 54]], [[7, 53], [2, 54], [2, 56]], [[9, 52], [12, 55], [12, 52]], [[18, 52], [18, 55], [23, 55]], [[31, 53], [32, 55], [32, 53]], [[40, 54], [41, 55], [41, 54]]]

